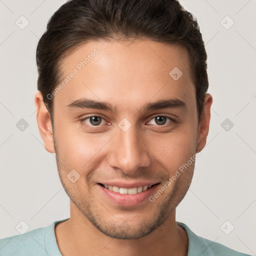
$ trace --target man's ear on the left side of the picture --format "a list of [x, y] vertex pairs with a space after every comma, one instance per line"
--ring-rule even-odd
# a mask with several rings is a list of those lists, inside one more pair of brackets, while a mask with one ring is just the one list
[[34, 103], [36, 107], [36, 120], [41, 138], [44, 142], [44, 148], [50, 153], [55, 153], [50, 114], [43, 102], [40, 91], [35, 93]]

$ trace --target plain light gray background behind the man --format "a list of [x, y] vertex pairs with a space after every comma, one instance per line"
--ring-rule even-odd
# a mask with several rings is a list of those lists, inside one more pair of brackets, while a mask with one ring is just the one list
[[[55, 155], [44, 149], [34, 107], [36, 44], [64, 2], [0, 0], [0, 238], [19, 234], [20, 221], [32, 230], [69, 217], [69, 198]], [[180, 2], [200, 25], [213, 104], [207, 144], [176, 219], [200, 236], [255, 255], [256, 0]], [[23, 130], [21, 118], [28, 124]]]

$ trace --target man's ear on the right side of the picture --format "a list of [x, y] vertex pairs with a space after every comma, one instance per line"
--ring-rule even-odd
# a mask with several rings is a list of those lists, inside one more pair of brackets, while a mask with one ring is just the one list
[[201, 151], [206, 144], [206, 138], [209, 131], [211, 104], [212, 96], [207, 93], [204, 97], [204, 105], [201, 112], [201, 119], [198, 125], [196, 152]]

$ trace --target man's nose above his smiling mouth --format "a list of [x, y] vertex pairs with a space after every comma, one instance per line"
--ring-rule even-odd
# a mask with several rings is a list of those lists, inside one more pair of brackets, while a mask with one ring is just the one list
[[126, 174], [133, 173], [139, 167], [149, 166], [150, 150], [146, 147], [143, 137], [139, 137], [132, 126], [126, 131], [118, 128], [111, 144], [112, 149], [108, 157], [108, 164], [111, 167], [121, 169]]

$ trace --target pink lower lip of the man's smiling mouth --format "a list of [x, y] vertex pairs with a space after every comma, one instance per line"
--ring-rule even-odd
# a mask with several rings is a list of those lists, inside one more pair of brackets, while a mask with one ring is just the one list
[[152, 194], [152, 192], [158, 186], [158, 184], [156, 184], [154, 186], [151, 186], [147, 190], [136, 194], [120, 194], [110, 189], [107, 189], [100, 184], [96, 185], [97, 187], [99, 187], [100, 191], [103, 193], [104, 196], [106, 196], [113, 203], [121, 206], [135, 206], [139, 203], [144, 202], [145, 200], [149, 201], [150, 194]]

